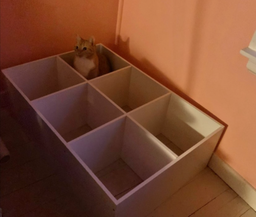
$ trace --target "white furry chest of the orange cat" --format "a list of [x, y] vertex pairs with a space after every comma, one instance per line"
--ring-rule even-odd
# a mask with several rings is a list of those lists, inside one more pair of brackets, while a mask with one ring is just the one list
[[79, 73], [83, 76], [87, 76], [89, 72], [95, 68], [95, 63], [93, 59], [75, 57], [74, 66]]

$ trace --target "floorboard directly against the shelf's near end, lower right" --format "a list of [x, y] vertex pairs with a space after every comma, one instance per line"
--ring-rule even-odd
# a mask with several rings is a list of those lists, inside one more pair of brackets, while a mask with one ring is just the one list
[[212, 171], [203, 173], [171, 196], [148, 217], [187, 217], [229, 187]]

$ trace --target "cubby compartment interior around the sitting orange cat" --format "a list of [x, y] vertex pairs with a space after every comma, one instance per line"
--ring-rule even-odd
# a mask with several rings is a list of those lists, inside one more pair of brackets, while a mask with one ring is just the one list
[[[130, 65], [128, 62], [126, 62], [121, 57], [117, 56], [115, 53], [113, 53], [111, 50], [109, 50], [102, 44], [97, 44], [96, 47], [97, 47], [98, 53], [103, 54], [106, 56], [106, 58], [108, 58], [111, 65], [111, 71], [116, 71], [118, 69], [121, 69]], [[59, 57], [63, 59], [65, 62], [67, 62], [70, 66], [74, 67], [74, 63], [73, 63], [74, 57], [75, 57], [74, 51], [62, 54]]]

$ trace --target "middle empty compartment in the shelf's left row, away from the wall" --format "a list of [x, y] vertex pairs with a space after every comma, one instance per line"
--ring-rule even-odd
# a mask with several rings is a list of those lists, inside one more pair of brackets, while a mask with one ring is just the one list
[[65, 89], [32, 104], [66, 141], [123, 115], [90, 84]]

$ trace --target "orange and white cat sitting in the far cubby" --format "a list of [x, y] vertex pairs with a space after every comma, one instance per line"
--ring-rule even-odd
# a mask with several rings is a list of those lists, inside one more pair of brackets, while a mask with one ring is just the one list
[[76, 36], [74, 68], [86, 79], [110, 73], [108, 59], [96, 52], [95, 39], [91, 36], [88, 40]]

